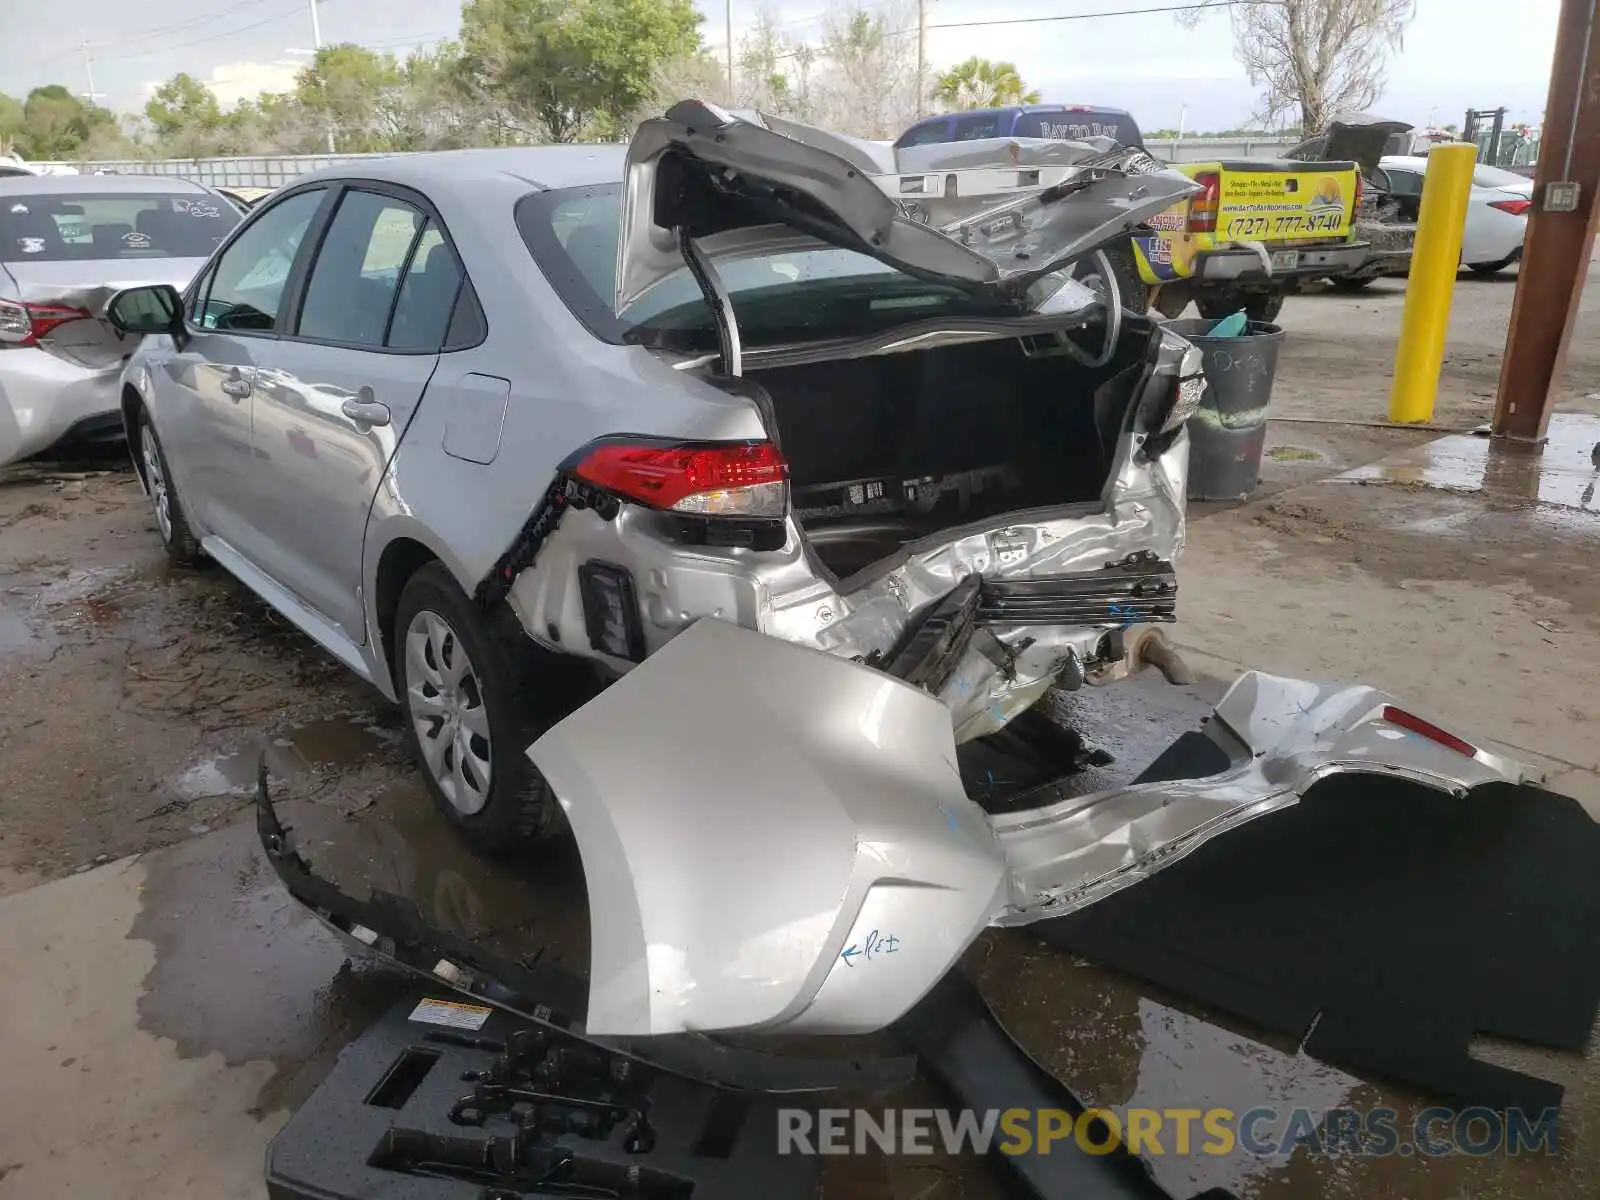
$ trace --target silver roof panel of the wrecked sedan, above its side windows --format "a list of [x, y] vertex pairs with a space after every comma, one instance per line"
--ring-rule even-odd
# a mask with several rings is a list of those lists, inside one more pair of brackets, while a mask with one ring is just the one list
[[515, 179], [531, 187], [589, 187], [622, 181], [626, 146], [512, 146], [483, 150], [427, 150], [379, 158], [358, 158], [296, 176], [296, 186], [314, 179], [376, 179], [419, 192], [470, 192], [474, 187]]

